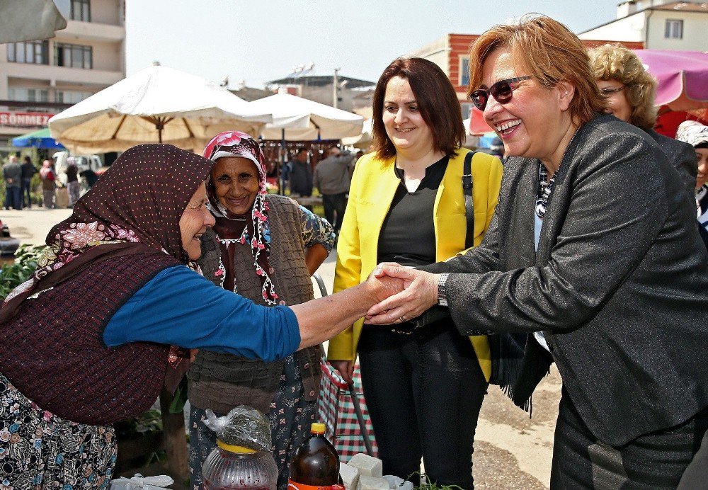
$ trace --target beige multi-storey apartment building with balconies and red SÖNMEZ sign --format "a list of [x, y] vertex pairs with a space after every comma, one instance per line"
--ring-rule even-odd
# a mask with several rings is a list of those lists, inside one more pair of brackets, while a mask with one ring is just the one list
[[10, 140], [125, 78], [125, 0], [55, 0], [55, 38], [0, 45], [0, 152]]

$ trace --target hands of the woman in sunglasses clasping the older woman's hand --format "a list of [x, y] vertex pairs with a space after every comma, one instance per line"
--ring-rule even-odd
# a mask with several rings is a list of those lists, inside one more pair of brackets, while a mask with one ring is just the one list
[[406, 268], [397, 263], [381, 263], [372, 274], [402, 279], [404, 290], [371, 307], [366, 315], [366, 324], [403, 323], [438, 304], [438, 274]]

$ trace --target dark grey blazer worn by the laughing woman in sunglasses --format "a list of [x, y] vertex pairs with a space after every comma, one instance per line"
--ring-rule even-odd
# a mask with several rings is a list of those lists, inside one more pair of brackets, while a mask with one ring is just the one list
[[[556, 172], [535, 253], [537, 181], [537, 160], [508, 159], [481, 246], [423, 267], [452, 273], [460, 333], [544, 331], [573, 404], [610, 445], [704, 409], [708, 254], [677, 171], [645, 132], [598, 115]], [[547, 369], [532, 338], [527, 354]]]

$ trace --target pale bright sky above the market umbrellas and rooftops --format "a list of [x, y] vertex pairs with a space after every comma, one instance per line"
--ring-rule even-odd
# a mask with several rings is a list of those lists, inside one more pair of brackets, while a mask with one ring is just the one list
[[579, 33], [618, 0], [126, 0], [127, 73], [157, 60], [211, 81], [262, 88], [297, 64], [375, 81], [396, 57], [445, 33], [479, 34], [527, 12]]

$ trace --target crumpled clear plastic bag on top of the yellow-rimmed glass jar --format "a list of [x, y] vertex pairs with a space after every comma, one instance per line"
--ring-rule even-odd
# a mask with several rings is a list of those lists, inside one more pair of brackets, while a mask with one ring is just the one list
[[217, 433], [222, 443], [270, 451], [270, 423], [260, 411], [239, 405], [223, 417], [217, 417], [211, 409], [207, 409], [206, 414], [204, 425]]

